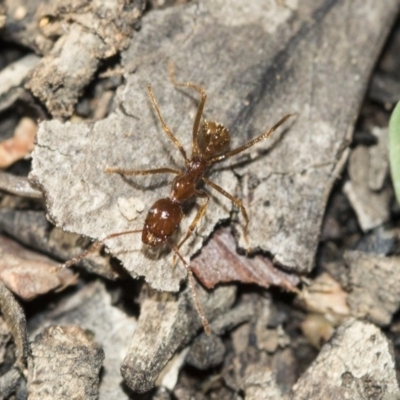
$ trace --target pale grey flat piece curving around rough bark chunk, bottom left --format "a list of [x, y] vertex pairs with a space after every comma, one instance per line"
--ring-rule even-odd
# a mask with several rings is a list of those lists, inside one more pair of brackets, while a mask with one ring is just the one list
[[43, 325], [79, 325], [93, 332], [105, 353], [99, 399], [129, 399], [122, 386], [119, 368], [135, 331], [136, 321], [113, 305], [104, 284], [95, 282], [86, 285], [55, 309], [39, 314], [30, 321], [30, 336], [43, 329]]

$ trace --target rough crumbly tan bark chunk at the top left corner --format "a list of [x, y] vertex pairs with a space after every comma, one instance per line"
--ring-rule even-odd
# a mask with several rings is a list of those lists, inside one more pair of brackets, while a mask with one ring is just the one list
[[[41, 60], [27, 83], [54, 117], [71, 116], [85, 86], [101, 59], [117, 54], [129, 45], [144, 0], [129, 4], [63, 1], [44, 4], [37, 11], [46, 36], [61, 36]], [[79, 62], [77, 62], [79, 61]]]

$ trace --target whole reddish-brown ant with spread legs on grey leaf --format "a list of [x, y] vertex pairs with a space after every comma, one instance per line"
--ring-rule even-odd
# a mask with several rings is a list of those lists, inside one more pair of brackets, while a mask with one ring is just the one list
[[[163, 244], [167, 244], [175, 253], [182, 263], [185, 265], [188, 275], [189, 286], [192, 291], [193, 300], [203, 323], [204, 330], [207, 334], [210, 334], [210, 327], [204, 311], [198, 301], [197, 294], [194, 288], [194, 278], [193, 272], [189, 264], [185, 261], [179, 252], [180, 247], [189, 239], [195, 230], [196, 226], [200, 222], [201, 218], [204, 216], [210, 196], [206, 190], [199, 188], [199, 184], [203, 183], [215, 189], [217, 192], [222, 194], [231, 200], [243, 215], [245, 220], [244, 235], [247, 238], [247, 228], [249, 224], [249, 218], [242, 201], [232, 196], [226, 192], [222, 187], [218, 186], [214, 182], [210, 181], [205, 177], [205, 173], [209, 167], [213, 164], [226, 160], [232, 156], [235, 156], [248, 148], [254, 146], [256, 143], [268, 138], [272, 132], [274, 132], [279, 126], [281, 126], [288, 118], [293, 114], [288, 114], [284, 116], [280, 121], [278, 121], [272, 128], [267, 130], [262, 135], [256, 137], [255, 139], [249, 141], [248, 143], [240, 146], [234, 150], [229, 150], [230, 145], [230, 134], [227, 128], [222, 124], [214, 121], [202, 121], [204, 104], [207, 99], [205, 90], [192, 82], [179, 83], [175, 80], [175, 73], [173, 64], [169, 64], [169, 78], [172, 84], [178, 87], [187, 87], [195, 90], [200, 96], [200, 103], [197, 108], [196, 117], [193, 123], [193, 139], [192, 139], [192, 154], [190, 158], [187, 156], [186, 151], [180, 144], [179, 140], [172, 133], [170, 128], [165, 123], [160, 109], [157, 105], [156, 99], [154, 97], [153, 90], [150, 85], [147, 85], [147, 91], [150, 97], [150, 101], [157, 113], [158, 119], [161, 123], [162, 129], [171, 140], [171, 142], [180, 151], [184, 161], [185, 169], [176, 170], [172, 168], [154, 168], [146, 170], [131, 170], [119, 167], [107, 167], [104, 172], [106, 173], [116, 173], [120, 175], [152, 175], [152, 174], [175, 174], [176, 177], [172, 181], [171, 193], [169, 197], [164, 197], [157, 200], [149, 209], [146, 219], [144, 221], [143, 229], [140, 230], [129, 230], [124, 232], [113, 233], [108, 235], [104, 239], [97, 241], [94, 245], [99, 246], [103, 244], [106, 240], [115, 238], [121, 235], [127, 235], [131, 233], [142, 233], [142, 242], [150, 247], [157, 247]], [[183, 218], [183, 204], [192, 198], [202, 198], [204, 199], [203, 204], [200, 206], [199, 210], [192, 223], [186, 232], [186, 235], [181, 239], [181, 241], [175, 245], [169, 239], [178, 229], [182, 218]], [[80, 260], [82, 260], [90, 251], [92, 251], [92, 246], [89, 247], [80, 256], [75, 257], [61, 267], [67, 268]], [[175, 259], [174, 256], [174, 259]]]

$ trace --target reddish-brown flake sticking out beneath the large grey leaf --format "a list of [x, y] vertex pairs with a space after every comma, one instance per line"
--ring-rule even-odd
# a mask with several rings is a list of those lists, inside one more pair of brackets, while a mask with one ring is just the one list
[[297, 276], [280, 271], [263, 256], [249, 258], [238, 255], [229, 228], [219, 229], [212, 236], [193, 260], [191, 267], [207, 289], [213, 289], [219, 283], [239, 281], [266, 288], [271, 285], [280, 286], [295, 291], [300, 282]]

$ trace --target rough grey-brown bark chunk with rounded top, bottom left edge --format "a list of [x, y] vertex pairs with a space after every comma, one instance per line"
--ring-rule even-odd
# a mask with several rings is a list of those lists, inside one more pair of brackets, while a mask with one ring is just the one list
[[45, 328], [31, 344], [29, 398], [97, 400], [103, 359], [103, 349], [78, 326]]

